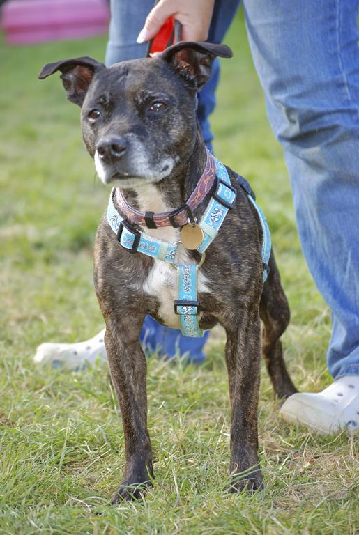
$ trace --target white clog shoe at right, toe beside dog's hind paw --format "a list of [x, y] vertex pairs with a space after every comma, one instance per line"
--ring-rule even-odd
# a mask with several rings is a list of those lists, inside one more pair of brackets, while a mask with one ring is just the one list
[[293, 394], [284, 402], [280, 416], [289, 424], [303, 424], [330, 435], [359, 429], [359, 375], [345, 375], [319, 394]]

